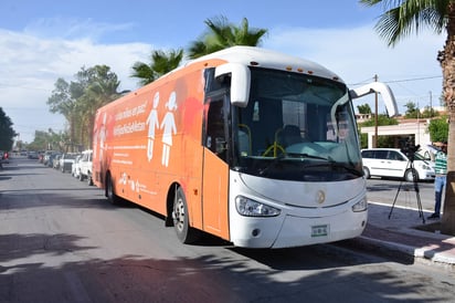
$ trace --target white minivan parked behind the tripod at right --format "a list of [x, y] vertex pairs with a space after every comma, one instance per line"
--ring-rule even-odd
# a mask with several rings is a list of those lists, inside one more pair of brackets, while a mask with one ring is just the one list
[[414, 160], [399, 148], [370, 148], [362, 149], [363, 175], [368, 179], [371, 176], [401, 178], [413, 181], [413, 170], [416, 180], [434, 180], [434, 163], [426, 160], [420, 154], [414, 154]]

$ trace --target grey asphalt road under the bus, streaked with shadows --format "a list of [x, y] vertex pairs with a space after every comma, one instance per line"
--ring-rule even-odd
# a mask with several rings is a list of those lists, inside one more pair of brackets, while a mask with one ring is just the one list
[[0, 302], [448, 302], [454, 278], [331, 244], [184, 245], [68, 174], [27, 159], [0, 171]]

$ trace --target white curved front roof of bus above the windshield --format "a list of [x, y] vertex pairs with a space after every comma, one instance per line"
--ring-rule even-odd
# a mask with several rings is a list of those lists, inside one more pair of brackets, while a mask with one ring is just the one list
[[251, 66], [310, 74], [342, 82], [336, 73], [318, 63], [255, 46], [232, 46], [190, 61], [186, 66], [195, 62], [215, 59]]

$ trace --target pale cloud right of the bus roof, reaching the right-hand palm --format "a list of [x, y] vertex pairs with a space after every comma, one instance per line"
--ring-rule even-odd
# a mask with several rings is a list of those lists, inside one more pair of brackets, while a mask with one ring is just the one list
[[430, 92], [433, 102], [438, 103], [442, 71], [436, 55], [444, 40], [444, 35], [423, 31], [389, 48], [374, 32], [373, 24], [352, 29], [275, 28], [264, 46], [315, 61], [351, 86], [373, 81], [378, 75], [379, 81], [389, 83], [403, 112], [410, 101], [421, 107], [427, 105]]

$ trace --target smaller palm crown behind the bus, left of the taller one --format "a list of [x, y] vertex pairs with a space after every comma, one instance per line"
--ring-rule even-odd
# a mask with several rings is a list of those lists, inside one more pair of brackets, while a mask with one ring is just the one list
[[177, 69], [183, 60], [183, 50], [152, 51], [151, 62], [149, 64], [144, 62], [136, 62], [133, 65], [131, 77], [138, 77], [140, 85], [147, 85], [158, 77]]

